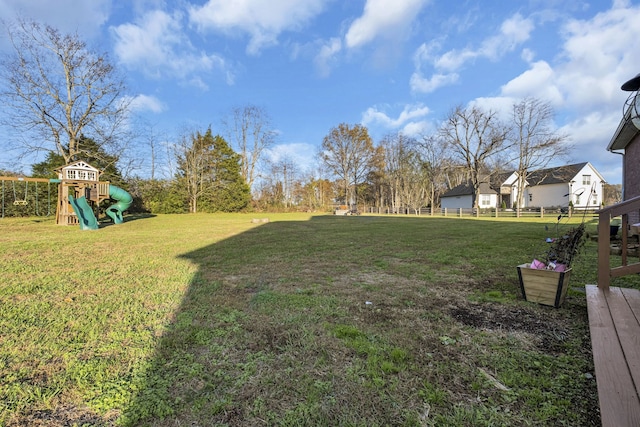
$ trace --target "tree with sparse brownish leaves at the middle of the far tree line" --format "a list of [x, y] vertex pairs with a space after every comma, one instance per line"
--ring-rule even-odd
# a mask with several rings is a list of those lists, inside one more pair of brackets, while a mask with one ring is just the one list
[[362, 125], [341, 123], [324, 137], [320, 159], [342, 182], [345, 203], [357, 204], [356, 188], [369, 173], [375, 155], [369, 131]]

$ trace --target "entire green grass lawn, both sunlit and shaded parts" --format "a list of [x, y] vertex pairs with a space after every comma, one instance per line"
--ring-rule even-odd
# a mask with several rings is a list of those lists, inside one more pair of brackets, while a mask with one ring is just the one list
[[518, 287], [554, 220], [2, 219], [0, 425], [599, 425], [596, 244]]

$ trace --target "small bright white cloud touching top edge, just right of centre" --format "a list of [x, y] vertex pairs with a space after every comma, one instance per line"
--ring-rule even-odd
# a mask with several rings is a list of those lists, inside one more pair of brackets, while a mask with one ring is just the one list
[[428, 0], [367, 0], [364, 13], [349, 27], [345, 44], [349, 48], [365, 45], [380, 35], [396, 35], [410, 27]]

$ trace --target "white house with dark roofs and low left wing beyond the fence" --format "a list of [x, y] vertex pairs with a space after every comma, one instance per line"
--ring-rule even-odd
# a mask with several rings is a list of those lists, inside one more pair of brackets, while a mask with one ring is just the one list
[[[483, 183], [478, 195], [480, 208], [496, 208], [503, 203], [512, 208], [518, 200], [518, 174], [506, 172]], [[541, 169], [529, 174], [520, 208], [567, 207], [598, 208], [603, 200], [605, 180], [589, 162]], [[472, 187], [459, 185], [440, 197], [447, 209], [473, 207]]]

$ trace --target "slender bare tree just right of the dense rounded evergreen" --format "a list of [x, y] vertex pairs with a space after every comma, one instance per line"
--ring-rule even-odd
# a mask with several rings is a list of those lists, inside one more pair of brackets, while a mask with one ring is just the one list
[[223, 121], [229, 139], [240, 154], [240, 172], [249, 188], [253, 187], [264, 152], [273, 145], [275, 131], [267, 112], [255, 105], [234, 108]]

